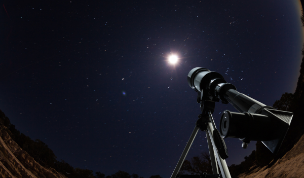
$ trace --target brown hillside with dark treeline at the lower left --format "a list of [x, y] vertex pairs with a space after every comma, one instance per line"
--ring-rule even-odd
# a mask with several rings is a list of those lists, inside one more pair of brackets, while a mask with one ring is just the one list
[[[122, 170], [107, 176], [99, 171], [94, 175], [93, 170], [74, 168], [56, 158], [48, 145], [20, 133], [0, 110], [0, 177], [143, 178]], [[150, 178], [162, 177], [151, 175]]]

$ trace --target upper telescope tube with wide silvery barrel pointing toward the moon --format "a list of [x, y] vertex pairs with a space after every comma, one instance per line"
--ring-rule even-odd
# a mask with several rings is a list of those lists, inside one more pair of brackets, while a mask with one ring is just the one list
[[225, 104], [230, 102], [240, 113], [260, 114], [263, 109], [274, 109], [238, 92], [237, 88], [227, 83], [219, 73], [211, 72], [207, 68], [196, 67], [190, 70], [188, 84], [194, 91], [203, 93], [201, 99], [221, 99]]

